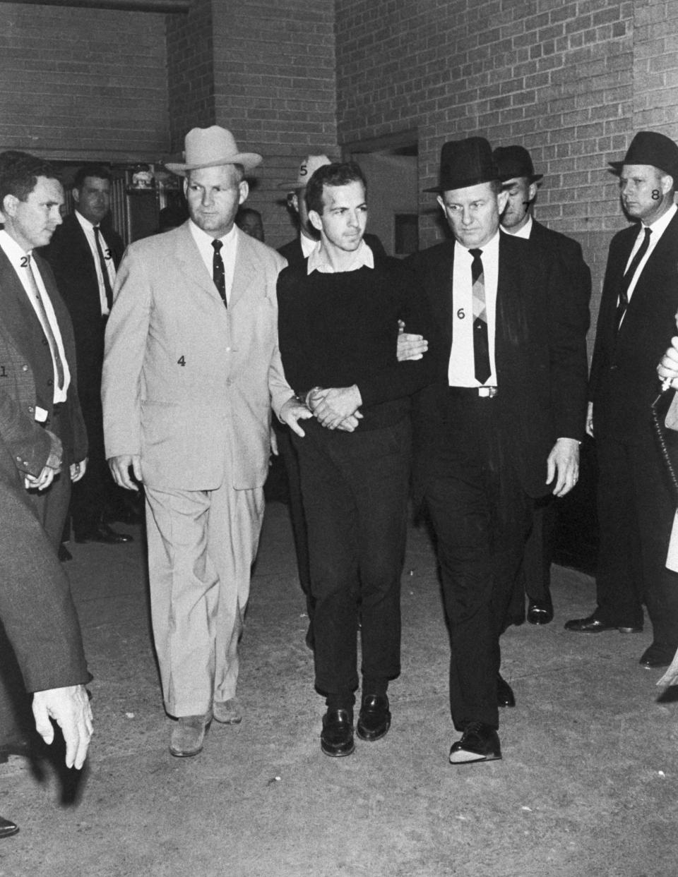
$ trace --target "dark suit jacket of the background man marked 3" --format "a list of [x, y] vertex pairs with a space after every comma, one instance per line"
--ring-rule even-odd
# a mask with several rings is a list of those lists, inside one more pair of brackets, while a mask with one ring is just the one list
[[[102, 232], [111, 250], [113, 264], [118, 268], [125, 249], [122, 238], [110, 226]], [[56, 285], [73, 321], [81, 392], [91, 385], [98, 396], [105, 327], [101, 318], [97, 268], [75, 213], [63, 220], [49, 246], [41, 252], [52, 266]]]

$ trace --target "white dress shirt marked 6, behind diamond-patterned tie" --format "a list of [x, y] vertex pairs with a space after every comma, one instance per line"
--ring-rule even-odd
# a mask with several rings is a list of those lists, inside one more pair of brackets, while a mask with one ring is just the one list
[[473, 282], [471, 253], [458, 241], [454, 244], [454, 265], [452, 267], [452, 349], [447, 369], [447, 379], [451, 387], [496, 387], [497, 374], [494, 363], [494, 335], [497, 310], [497, 282], [499, 279], [499, 236], [487, 241], [485, 246], [473, 247], [482, 250], [485, 280], [485, 307], [487, 310], [487, 344], [490, 354], [490, 376], [484, 384], [476, 380], [473, 364]]

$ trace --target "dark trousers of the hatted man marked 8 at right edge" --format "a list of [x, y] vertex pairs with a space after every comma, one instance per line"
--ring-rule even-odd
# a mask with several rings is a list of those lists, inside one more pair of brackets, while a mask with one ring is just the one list
[[596, 617], [619, 627], [643, 624], [654, 641], [678, 646], [678, 574], [666, 568], [675, 501], [651, 431], [638, 444], [596, 441], [600, 551]]

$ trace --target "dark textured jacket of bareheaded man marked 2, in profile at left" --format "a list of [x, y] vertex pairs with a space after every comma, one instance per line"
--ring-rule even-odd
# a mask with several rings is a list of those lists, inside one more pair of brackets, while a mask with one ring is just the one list
[[[87, 456], [87, 433], [76, 389], [76, 345], [69, 312], [56, 289], [49, 265], [33, 254], [54, 307], [71, 380], [66, 402], [68, 420], [64, 466]], [[0, 250], [0, 434], [11, 448], [19, 471], [40, 474], [47, 463], [50, 440], [46, 431], [54, 407], [54, 368], [45, 333], [25, 289]], [[35, 421], [35, 406], [47, 411], [45, 426]]]

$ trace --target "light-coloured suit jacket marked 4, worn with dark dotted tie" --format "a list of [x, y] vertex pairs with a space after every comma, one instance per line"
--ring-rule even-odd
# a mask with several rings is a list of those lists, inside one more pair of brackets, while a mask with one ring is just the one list
[[139, 454], [153, 488], [263, 486], [270, 408], [293, 393], [278, 351], [285, 260], [237, 233], [224, 307], [189, 223], [128, 247], [106, 327], [106, 457]]

